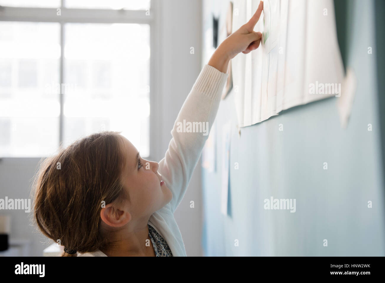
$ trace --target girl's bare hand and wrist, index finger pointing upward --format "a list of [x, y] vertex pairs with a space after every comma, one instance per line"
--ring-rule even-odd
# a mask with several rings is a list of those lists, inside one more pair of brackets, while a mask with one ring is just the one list
[[[262, 33], [254, 32], [254, 26], [259, 20], [263, 10], [263, 2], [259, 2], [259, 6], [253, 17], [231, 33], [215, 50], [213, 56], [209, 60], [208, 65], [215, 67], [223, 73], [227, 72], [228, 63], [238, 53], [248, 54], [250, 51], [258, 48], [261, 43]], [[212, 65], [214, 64], [214, 65]]]

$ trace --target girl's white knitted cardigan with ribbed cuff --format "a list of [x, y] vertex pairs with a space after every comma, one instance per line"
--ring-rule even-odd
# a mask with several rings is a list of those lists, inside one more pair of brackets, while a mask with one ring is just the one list
[[[186, 256], [182, 235], [174, 219], [174, 211], [186, 192], [192, 172], [201, 156], [208, 133], [218, 112], [221, 94], [228, 76], [228, 74], [220, 72], [210, 65], [204, 65], [179, 111], [171, 131], [172, 139], [166, 155], [159, 162], [158, 172], [171, 190], [172, 200], [154, 212], [148, 224], [154, 227], [166, 240], [173, 256]], [[187, 122], [202, 122], [202, 124], [208, 122], [207, 132], [187, 132], [187, 127], [186, 132], [177, 131], [177, 122], [181, 122], [183, 125], [183, 120], [186, 124]], [[206, 128], [203, 129], [206, 130]], [[97, 250], [83, 254], [78, 253], [77, 256], [107, 255]]]

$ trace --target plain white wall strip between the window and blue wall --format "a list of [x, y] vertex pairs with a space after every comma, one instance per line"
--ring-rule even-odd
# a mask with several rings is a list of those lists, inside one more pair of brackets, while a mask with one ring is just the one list
[[[166, 152], [171, 129], [184, 100], [201, 71], [201, 1], [162, 1], [161, 90], [163, 96], [162, 146]], [[195, 53], [190, 54], [190, 47]], [[187, 256], [202, 256], [201, 162], [194, 171], [189, 188], [175, 211]], [[193, 200], [195, 208], [190, 208]]]

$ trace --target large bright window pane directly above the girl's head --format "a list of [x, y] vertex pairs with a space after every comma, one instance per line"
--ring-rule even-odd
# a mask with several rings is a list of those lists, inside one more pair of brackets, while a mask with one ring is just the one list
[[64, 35], [64, 145], [122, 131], [148, 156], [149, 25], [67, 23]]

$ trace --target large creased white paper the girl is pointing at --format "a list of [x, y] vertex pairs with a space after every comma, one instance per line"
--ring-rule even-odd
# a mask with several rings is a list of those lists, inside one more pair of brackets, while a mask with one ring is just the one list
[[[258, 4], [234, 0], [233, 31], [248, 22]], [[263, 31], [260, 47], [232, 59], [238, 127], [340, 91], [343, 64], [333, 0], [265, 0], [254, 31]], [[330, 93], [326, 84], [327, 90], [338, 87]]]

